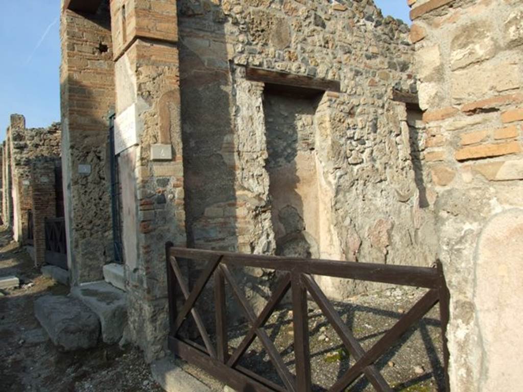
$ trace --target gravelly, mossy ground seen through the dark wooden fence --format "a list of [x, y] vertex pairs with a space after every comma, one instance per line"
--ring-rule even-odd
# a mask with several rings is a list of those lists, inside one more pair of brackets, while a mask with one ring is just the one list
[[[351, 298], [350, 303], [337, 303], [335, 308], [351, 327], [363, 349], [369, 350], [399, 318], [423, 296], [426, 290], [395, 288]], [[291, 308], [273, 314], [265, 330], [283, 355], [283, 360], [295, 374]], [[237, 347], [248, 325], [236, 330], [230, 340]], [[309, 302], [309, 330], [313, 391], [327, 390], [356, 362], [346, 351], [336, 331], [314, 303]], [[263, 345], [256, 338], [240, 365], [253, 370], [270, 381], [282, 385]], [[438, 307], [433, 308], [403, 339], [375, 364], [394, 391], [443, 391], [442, 342]], [[371, 392], [372, 385], [360, 377], [350, 392]]]

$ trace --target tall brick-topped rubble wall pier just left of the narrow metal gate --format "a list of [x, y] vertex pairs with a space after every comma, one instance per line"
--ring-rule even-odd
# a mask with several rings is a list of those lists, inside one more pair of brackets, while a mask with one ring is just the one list
[[61, 16], [62, 168], [73, 285], [102, 279], [104, 264], [113, 260], [108, 135], [115, 82], [109, 5], [102, 3], [96, 14], [65, 9]]

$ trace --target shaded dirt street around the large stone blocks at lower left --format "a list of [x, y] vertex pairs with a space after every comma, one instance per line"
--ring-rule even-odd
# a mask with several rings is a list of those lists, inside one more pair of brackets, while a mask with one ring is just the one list
[[0, 390], [2, 392], [161, 392], [143, 355], [134, 349], [100, 345], [58, 352], [33, 314], [44, 294], [68, 288], [44, 278], [23, 249], [0, 232], [0, 276], [15, 275], [21, 285], [0, 293]]

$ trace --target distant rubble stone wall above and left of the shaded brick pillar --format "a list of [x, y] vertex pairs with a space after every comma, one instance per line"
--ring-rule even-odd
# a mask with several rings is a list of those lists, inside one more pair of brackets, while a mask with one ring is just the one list
[[[12, 227], [14, 239], [20, 244], [27, 241], [29, 211], [34, 202], [31, 198], [31, 165], [41, 158], [59, 159], [60, 138], [59, 123], [49, 128], [27, 129], [24, 116], [11, 116], [6, 140], [12, 179]], [[54, 171], [50, 175], [54, 175]]]

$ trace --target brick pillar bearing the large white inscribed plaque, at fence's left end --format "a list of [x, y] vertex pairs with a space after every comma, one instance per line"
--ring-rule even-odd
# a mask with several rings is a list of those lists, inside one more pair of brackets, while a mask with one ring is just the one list
[[129, 328], [153, 360], [168, 328], [165, 242], [186, 244], [176, 2], [111, 0], [111, 22]]

